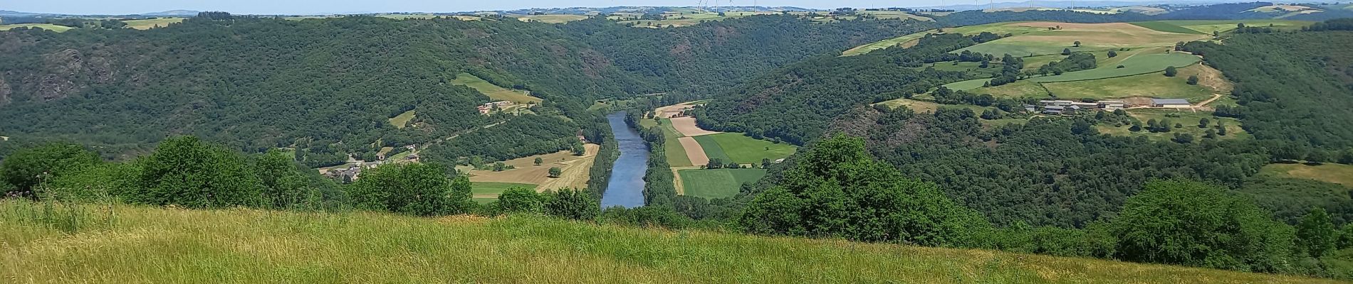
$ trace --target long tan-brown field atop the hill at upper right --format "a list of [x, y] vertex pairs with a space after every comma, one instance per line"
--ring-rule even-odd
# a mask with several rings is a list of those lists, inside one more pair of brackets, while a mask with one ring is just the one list
[[1176, 42], [1191, 42], [1191, 40], [1210, 38], [1208, 35], [1191, 35], [1191, 34], [1155, 31], [1128, 23], [1084, 24], [1084, 23], [1028, 22], [1028, 23], [1013, 23], [1011, 26], [1038, 27], [1038, 28], [1061, 27], [1061, 30], [1001, 39], [1005, 43], [1038, 42], [1038, 43], [1058, 43], [1070, 46], [1073, 42], [1081, 42], [1082, 46], [1091, 46], [1091, 47], [1132, 47], [1132, 46], [1169, 46], [1174, 44]]

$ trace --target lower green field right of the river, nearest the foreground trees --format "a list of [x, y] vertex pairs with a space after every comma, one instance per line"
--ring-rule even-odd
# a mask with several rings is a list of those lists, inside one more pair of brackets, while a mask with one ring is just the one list
[[700, 198], [728, 198], [737, 195], [743, 183], [754, 183], [766, 175], [760, 168], [718, 168], [676, 171], [685, 195]]

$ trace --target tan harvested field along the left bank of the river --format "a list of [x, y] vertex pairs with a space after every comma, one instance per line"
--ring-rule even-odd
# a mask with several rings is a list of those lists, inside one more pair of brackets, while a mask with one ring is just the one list
[[[469, 171], [469, 182], [495, 182], [495, 183], [530, 183], [540, 184], [537, 190], [556, 190], [564, 187], [587, 187], [587, 176], [591, 170], [593, 162], [597, 159], [597, 151], [601, 149], [598, 144], [587, 144], [587, 153], [583, 156], [574, 156], [568, 151], [560, 151], [556, 153], [528, 156], [521, 159], [513, 159], [505, 162], [514, 170], [507, 171]], [[536, 166], [536, 157], [541, 157], [545, 163]], [[559, 167], [564, 171], [560, 178], [549, 178], [549, 168]]]

